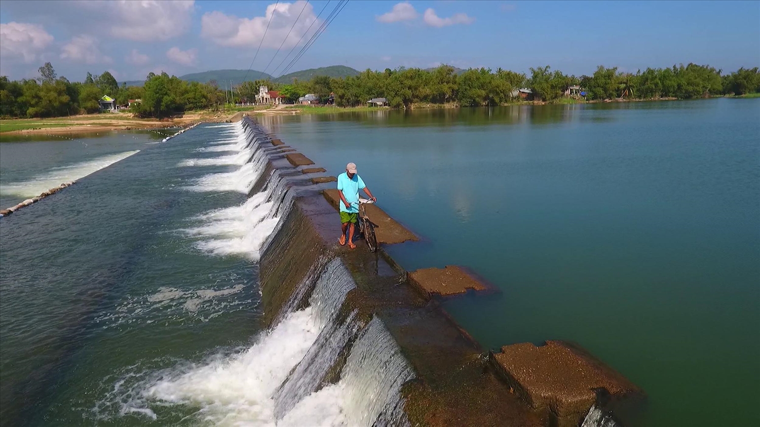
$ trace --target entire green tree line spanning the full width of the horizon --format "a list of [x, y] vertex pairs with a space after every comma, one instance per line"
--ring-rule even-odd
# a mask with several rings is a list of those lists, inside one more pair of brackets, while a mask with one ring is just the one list
[[[141, 100], [131, 112], [143, 117], [165, 117], [174, 112], [193, 109], [219, 109], [228, 100], [227, 93], [214, 81], [206, 84], [182, 81], [166, 73], [148, 74], [144, 87], [119, 85], [105, 71], [87, 73], [84, 83], [71, 83], [57, 77], [48, 62], [39, 69], [40, 77], [10, 81], [0, 77], [0, 115], [3, 117], [52, 117], [97, 112], [103, 95], [116, 99]], [[459, 106], [497, 106], [520, 100], [518, 90], [529, 88], [534, 100], [555, 102], [568, 96], [568, 88], [581, 87], [586, 100], [625, 98], [651, 100], [689, 99], [727, 94], [760, 92], [758, 68], [740, 68], [730, 74], [709, 65], [673, 65], [671, 68], [647, 68], [634, 73], [599, 66], [590, 76], [567, 75], [549, 66], [530, 68], [530, 75], [502, 68], [470, 68], [461, 73], [442, 65], [432, 70], [397, 68], [385, 71], [366, 70], [353, 77], [318, 76], [311, 81], [274, 84], [271, 81], [245, 81], [234, 88], [234, 102], [254, 103], [258, 87], [278, 90], [287, 102], [314, 93], [323, 102], [334, 95], [337, 106], [363, 106], [372, 98], [384, 97], [394, 108], [413, 103], [455, 103]]]

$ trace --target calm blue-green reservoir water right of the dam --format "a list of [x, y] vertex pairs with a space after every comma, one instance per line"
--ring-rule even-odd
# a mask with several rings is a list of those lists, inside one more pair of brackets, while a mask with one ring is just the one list
[[648, 393], [640, 425], [760, 425], [760, 100], [261, 122], [359, 166], [423, 237], [388, 247], [401, 265], [502, 289], [445, 302], [486, 347], [580, 343]]

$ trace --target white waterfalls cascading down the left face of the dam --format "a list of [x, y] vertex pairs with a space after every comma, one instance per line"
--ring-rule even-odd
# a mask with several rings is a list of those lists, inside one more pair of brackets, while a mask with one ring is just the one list
[[[219, 157], [178, 166], [236, 167], [204, 176], [189, 189], [238, 191], [249, 198], [208, 212], [198, 218], [200, 226], [183, 231], [204, 251], [255, 260], [282, 226], [296, 189], [287, 172], [264, 176], [268, 155], [278, 149], [268, 147], [257, 125], [244, 119], [228, 126], [229, 134], [210, 141], [210, 147], [223, 147], [208, 151]], [[254, 187], [261, 189], [249, 194]], [[122, 415], [155, 419], [155, 408], [185, 405], [199, 407], [202, 421], [215, 425], [408, 425], [401, 387], [413, 371], [379, 318], [360, 320], [356, 311], [339, 315], [356, 283], [340, 258], [328, 259], [318, 257], [251, 346], [156, 372]]]

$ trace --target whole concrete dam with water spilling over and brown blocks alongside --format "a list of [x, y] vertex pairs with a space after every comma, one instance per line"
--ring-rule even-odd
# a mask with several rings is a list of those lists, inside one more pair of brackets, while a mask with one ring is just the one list
[[[318, 325], [273, 392], [278, 425], [306, 408], [319, 425], [591, 427], [635, 418], [644, 392], [574, 343], [481, 348], [439, 305], [496, 292], [477, 274], [407, 272], [382, 247], [337, 245], [334, 177], [253, 119], [234, 119], [249, 163], [263, 169], [249, 197], [265, 194], [281, 219], [261, 245], [265, 323], [284, 334], [307, 310]], [[417, 239], [376, 206], [369, 216], [382, 245]]]

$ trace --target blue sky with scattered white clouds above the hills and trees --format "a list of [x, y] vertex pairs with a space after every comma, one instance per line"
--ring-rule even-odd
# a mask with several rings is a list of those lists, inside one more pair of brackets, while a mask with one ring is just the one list
[[[337, 3], [4, 0], [0, 74], [36, 77], [46, 61], [71, 81], [87, 71], [125, 81], [150, 71], [246, 69], [272, 17], [253, 64], [263, 70], [283, 44], [271, 73]], [[521, 72], [551, 65], [581, 75], [597, 65], [635, 71], [688, 62], [724, 71], [760, 66], [760, 2], [352, 0], [290, 71], [446, 63]]]

